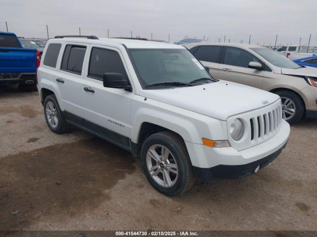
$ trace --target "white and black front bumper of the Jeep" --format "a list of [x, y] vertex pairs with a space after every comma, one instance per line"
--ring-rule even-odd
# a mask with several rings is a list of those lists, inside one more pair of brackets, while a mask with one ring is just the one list
[[186, 141], [185, 144], [196, 176], [208, 182], [212, 177], [238, 178], [250, 175], [258, 165], [263, 168], [286, 146], [289, 133], [289, 124], [282, 120], [279, 131], [270, 139], [240, 151], [233, 147], [210, 148]]

